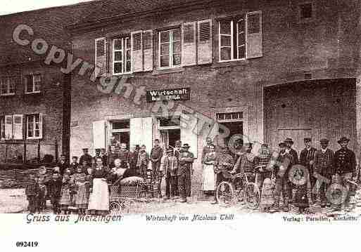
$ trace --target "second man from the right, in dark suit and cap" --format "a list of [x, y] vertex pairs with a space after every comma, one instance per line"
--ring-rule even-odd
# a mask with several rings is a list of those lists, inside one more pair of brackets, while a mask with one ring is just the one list
[[[323, 138], [319, 140], [321, 145], [321, 149], [315, 152], [315, 157], [313, 158], [313, 167], [315, 173], [322, 175], [322, 177], [327, 178], [330, 180], [332, 178], [333, 173], [333, 160], [334, 160], [334, 152], [329, 150], [329, 140]], [[310, 176], [313, 177], [312, 174]], [[319, 198], [321, 199], [321, 207], [324, 208], [327, 206], [327, 197], [326, 192], [329, 184], [325, 183], [324, 181], [319, 181]], [[313, 187], [311, 188], [313, 190]]]

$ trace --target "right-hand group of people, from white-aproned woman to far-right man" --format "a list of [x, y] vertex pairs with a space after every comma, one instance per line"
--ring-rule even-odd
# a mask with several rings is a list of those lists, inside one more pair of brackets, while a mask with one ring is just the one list
[[[222, 171], [229, 171], [255, 178], [261, 191], [260, 208], [265, 212], [288, 212], [291, 205], [300, 213], [310, 211], [310, 206], [350, 211], [350, 199], [355, 196], [360, 171], [356, 168], [355, 153], [348, 149], [349, 141], [345, 137], [338, 140], [340, 149], [333, 152], [327, 139], [320, 140], [321, 148], [316, 150], [312, 147], [312, 139], [304, 138], [305, 148], [299, 157], [292, 148], [291, 138], [279, 142], [279, 150], [274, 153], [267, 144], [262, 144], [258, 155], [251, 152], [251, 143], [244, 143], [232, 158], [227, 147], [217, 155], [215, 146], [208, 139], [202, 159], [203, 190], [213, 193], [225, 180]], [[213, 203], [217, 204], [216, 198]]]

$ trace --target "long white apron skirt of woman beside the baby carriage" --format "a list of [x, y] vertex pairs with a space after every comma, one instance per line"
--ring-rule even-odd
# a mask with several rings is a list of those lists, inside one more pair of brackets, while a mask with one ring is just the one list
[[108, 183], [102, 178], [93, 180], [93, 192], [90, 194], [88, 210], [109, 211]]

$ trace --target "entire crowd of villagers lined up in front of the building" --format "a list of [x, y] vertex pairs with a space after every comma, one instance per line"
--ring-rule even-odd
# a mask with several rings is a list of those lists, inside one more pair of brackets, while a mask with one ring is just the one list
[[[201, 190], [204, 195], [214, 197], [212, 204], [217, 204], [215, 190], [217, 185], [227, 180], [224, 172], [242, 173], [252, 175], [260, 188], [262, 211], [289, 211], [293, 204], [303, 213], [317, 201], [322, 208], [339, 210], [342, 207], [348, 210], [350, 197], [355, 192], [349, 182], [360, 179], [357, 178], [355, 153], [348, 149], [349, 141], [344, 137], [338, 140], [341, 148], [333, 152], [329, 149], [329, 140], [320, 140], [321, 148], [316, 150], [312, 147], [312, 139], [305, 138], [305, 148], [298, 158], [291, 138], [279, 143], [276, 154], [270, 152], [267, 144], [262, 144], [257, 155], [252, 153], [251, 143], [243, 143], [239, 152], [234, 154], [227, 146], [215, 146], [212, 139], [207, 138], [201, 157]], [[149, 153], [145, 145], [135, 145], [129, 151], [127, 145], [121, 143], [111, 145], [108, 153], [105, 149], [96, 149], [94, 157], [84, 148], [79, 162], [77, 157], [72, 157], [69, 163], [62, 155], [53, 168], [51, 178], [46, 178], [44, 172], [31, 175], [26, 188], [29, 211], [44, 211], [46, 199], [50, 199], [53, 213], [68, 214], [75, 209], [80, 214], [107, 214], [108, 185], [132, 176], [145, 178], [149, 171], [158, 180], [158, 197], [162, 198], [160, 185], [165, 178], [164, 199], [180, 197], [184, 203], [191, 196], [191, 176], [194, 172], [195, 158], [190, 148], [177, 140], [175, 147], [163, 150], [160, 141], [155, 140]], [[332, 201], [334, 195], [328, 190], [334, 183], [347, 191], [344, 200], [337, 204]]]

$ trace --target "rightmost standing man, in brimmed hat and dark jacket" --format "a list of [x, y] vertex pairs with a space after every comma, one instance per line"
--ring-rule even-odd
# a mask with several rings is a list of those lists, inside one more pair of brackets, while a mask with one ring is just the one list
[[[334, 154], [334, 179], [341, 183], [343, 187], [347, 188], [346, 199], [342, 202], [343, 206], [348, 210], [348, 204], [350, 202], [350, 191], [349, 184], [347, 180], [353, 178], [353, 173], [356, 171], [356, 158], [355, 153], [348, 149], [347, 145], [350, 142], [350, 139], [342, 137], [337, 141], [341, 145], [341, 149], [336, 151]], [[337, 206], [337, 209], [340, 209], [341, 205]]]

